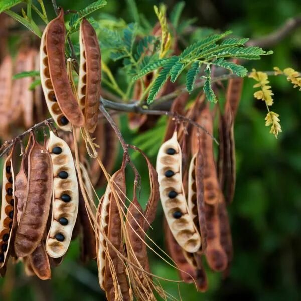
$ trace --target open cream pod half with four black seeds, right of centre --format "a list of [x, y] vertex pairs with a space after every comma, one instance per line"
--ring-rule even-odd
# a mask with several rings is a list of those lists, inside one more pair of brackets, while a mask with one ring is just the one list
[[182, 152], [177, 132], [161, 145], [156, 170], [163, 211], [173, 236], [185, 251], [194, 253], [201, 247], [201, 237], [186, 203], [182, 183]]

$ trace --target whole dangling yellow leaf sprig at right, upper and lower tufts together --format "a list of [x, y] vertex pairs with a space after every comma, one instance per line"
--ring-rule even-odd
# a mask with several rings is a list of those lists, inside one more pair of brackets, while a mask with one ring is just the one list
[[[279, 69], [279, 71], [281, 71], [281, 70]], [[249, 77], [255, 79], [258, 82], [253, 87], [260, 88], [260, 90], [256, 91], [254, 93], [254, 97], [256, 99], [261, 99], [261, 100], [265, 101], [266, 108], [268, 111], [268, 113], [264, 119], [265, 126], [271, 126], [270, 133], [275, 135], [275, 137], [277, 139], [278, 134], [282, 132], [282, 129], [281, 129], [281, 125], [280, 125], [279, 115], [270, 111], [269, 107], [268, 107], [274, 103], [273, 98], [272, 98], [272, 96], [274, 94], [271, 90], [271, 86], [268, 85], [269, 84], [268, 76], [265, 72], [256, 71], [255, 69], [253, 69], [251, 74], [249, 75]]]

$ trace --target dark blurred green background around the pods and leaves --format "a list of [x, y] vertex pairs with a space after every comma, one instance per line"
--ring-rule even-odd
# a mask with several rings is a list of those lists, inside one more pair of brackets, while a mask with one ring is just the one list
[[[52, 14], [50, 1], [45, 2], [47, 11]], [[57, 1], [64, 9], [74, 10], [90, 2]], [[156, 22], [153, 5], [158, 3], [137, 1], [139, 10], [152, 24]], [[166, 0], [164, 3], [172, 8], [177, 1]], [[108, 0], [101, 12], [123, 18], [127, 23], [133, 21], [126, 1]], [[197, 26], [231, 29], [234, 35], [256, 38], [300, 14], [301, 2], [296, 0], [191, 0], [186, 1], [183, 17], [196, 17]], [[97, 14], [94, 17], [96, 19]], [[274, 51], [273, 55], [252, 61], [246, 67], [261, 71], [272, 70], [274, 66], [292, 67], [301, 71], [301, 29], [270, 49]], [[235, 297], [263, 301], [300, 299], [301, 92], [293, 89], [283, 77], [271, 77], [270, 81], [275, 94], [273, 111], [280, 114], [283, 130], [278, 140], [264, 126], [266, 108], [263, 102], [253, 98], [252, 79], [245, 79], [236, 119], [237, 184], [234, 201], [228, 207], [234, 259], [229, 277], [222, 279], [220, 274], [208, 270], [209, 290], [203, 294], [195, 292], [193, 285], [181, 284], [181, 296], [185, 301]], [[126, 116], [122, 116], [121, 121], [126, 141], [134, 143], [136, 134], [128, 130]], [[154, 148], [151, 153], [156, 153]], [[155, 162], [156, 158], [152, 156], [151, 159]], [[145, 203], [147, 173], [144, 161], [136, 159], [136, 163], [145, 179], [140, 199]], [[150, 236], [164, 248], [161, 208]], [[174, 269], [153, 254], [150, 258], [154, 274], [178, 279]], [[163, 281], [161, 284], [179, 298], [175, 283]], [[18, 265], [15, 270], [8, 270], [5, 279], [0, 279], [0, 290], [1, 300], [105, 300], [98, 285], [96, 262], [85, 266], [79, 262], [78, 241], [72, 242], [64, 263], [53, 269], [51, 281], [26, 278]]]

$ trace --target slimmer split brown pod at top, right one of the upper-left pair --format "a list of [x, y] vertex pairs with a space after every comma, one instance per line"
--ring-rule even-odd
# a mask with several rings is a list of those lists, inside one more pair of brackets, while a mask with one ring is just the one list
[[99, 112], [101, 54], [96, 32], [85, 18], [80, 23], [79, 46], [79, 105], [84, 109], [87, 129], [93, 133], [97, 125]]

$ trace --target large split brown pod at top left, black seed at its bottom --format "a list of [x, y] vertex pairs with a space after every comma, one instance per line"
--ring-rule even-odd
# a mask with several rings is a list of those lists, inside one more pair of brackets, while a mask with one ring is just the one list
[[[40, 47], [40, 77], [51, 116], [63, 130], [84, 126], [84, 115], [68, 80], [65, 62], [64, 12], [48, 23]], [[71, 124], [70, 124], [70, 123]]]

